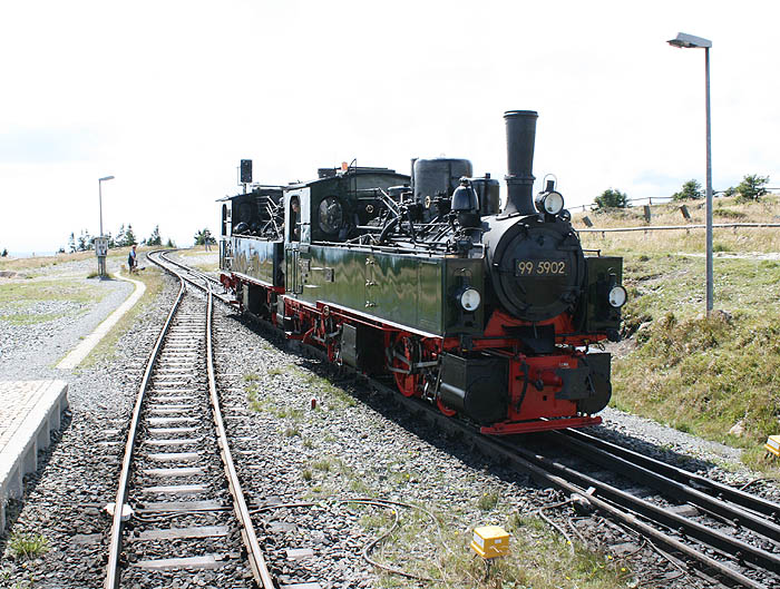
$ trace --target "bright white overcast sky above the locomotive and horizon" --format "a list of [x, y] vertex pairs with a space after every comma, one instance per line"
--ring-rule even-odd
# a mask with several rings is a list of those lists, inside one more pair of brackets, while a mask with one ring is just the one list
[[[503, 112], [539, 112], [534, 173], [569, 206], [704, 184], [780, 186], [780, 3], [585, 1], [7, 1], [0, 7], [0, 249], [158, 224], [216, 234], [236, 166], [285, 184], [318, 167], [409, 171], [467, 157], [506, 173]], [[505, 193], [503, 185], [501, 193]]]

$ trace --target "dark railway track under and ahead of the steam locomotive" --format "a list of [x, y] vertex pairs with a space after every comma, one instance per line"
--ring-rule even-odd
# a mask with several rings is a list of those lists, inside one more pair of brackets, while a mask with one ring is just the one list
[[402, 397], [382, 382], [371, 384], [435, 421], [437, 429], [469, 439], [486, 454], [663, 547], [667, 552], [662, 553], [685, 573], [715, 586], [780, 587], [780, 505], [776, 503], [583, 432], [536, 436], [545, 440], [545, 449], [558, 446], [564, 458], [529, 450], [530, 438], [481, 435], [476, 428]]

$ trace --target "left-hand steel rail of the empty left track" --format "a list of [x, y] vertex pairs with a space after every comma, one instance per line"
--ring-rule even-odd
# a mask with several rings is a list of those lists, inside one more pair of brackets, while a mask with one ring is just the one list
[[130, 418], [130, 426], [127, 433], [127, 442], [125, 444], [125, 458], [121, 462], [121, 472], [119, 473], [119, 484], [117, 489], [116, 500], [114, 502], [114, 518], [111, 521], [111, 534], [108, 544], [108, 563], [106, 565], [106, 582], [104, 587], [106, 589], [117, 589], [119, 587], [119, 554], [121, 553], [121, 512], [127, 501], [127, 484], [130, 478], [130, 465], [133, 464], [133, 454], [135, 452], [136, 433], [138, 431], [138, 424], [140, 422], [140, 410], [144, 404], [144, 399], [146, 396], [146, 389], [149, 384], [149, 379], [152, 377], [152, 371], [154, 370], [157, 357], [159, 356], [159, 351], [163, 347], [163, 340], [168, 333], [168, 328], [173, 323], [174, 315], [178, 311], [179, 304], [184, 298], [184, 279], [179, 277], [179, 291], [176, 301], [170, 307], [168, 317], [165, 321], [165, 325], [157, 336], [155, 346], [149, 356], [149, 361], [146, 364], [146, 370], [144, 371], [144, 377], [140, 381], [140, 386], [138, 387], [138, 394], [136, 396], [136, 404], [133, 409], [133, 416]]

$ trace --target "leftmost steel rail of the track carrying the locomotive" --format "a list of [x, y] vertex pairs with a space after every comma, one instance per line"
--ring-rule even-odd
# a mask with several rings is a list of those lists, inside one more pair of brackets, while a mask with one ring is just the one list
[[693, 560], [699, 561], [705, 568], [712, 571], [716, 571], [719, 575], [723, 576], [724, 578], [731, 579], [733, 582], [737, 582], [749, 589], [767, 589], [767, 586], [753, 579], [750, 579], [749, 577], [745, 577], [739, 571], [733, 570], [725, 562], [721, 562], [719, 560], [713, 559], [712, 557], [706, 556], [700, 550], [696, 550], [695, 548], [681, 542], [676, 538], [672, 538], [667, 533], [664, 533], [663, 531], [657, 530], [652, 526], [645, 523], [640, 518], [637, 518], [636, 514], [628, 511], [624, 511], [623, 509], [620, 509], [612, 502], [596, 497], [592, 492], [588, 492], [586, 489], [591, 487], [589, 484], [575, 484], [567, 480], [565, 477], [555, 474], [554, 472], [547, 470], [546, 465], [536, 464], [535, 462], [520, 457], [517, 452], [518, 449], [507, 444], [506, 442], [480, 434], [476, 432], [472, 428], [466, 425], [465, 423], [460, 423], [452, 419], [446, 418], [433, 408], [427, 406], [425, 403], [418, 400], [409, 399], [397, 394], [394, 391], [383, 385], [379, 385], [379, 387], [392, 394], [393, 399], [396, 399], [399, 403], [406, 405], [407, 409], [410, 410], [410, 412], [425, 413], [429, 418], [435, 420], [437, 422], [437, 425], [439, 425], [442, 430], [458, 432], [469, 438], [476, 446], [479, 446], [486, 453], [486, 455], [500, 457], [504, 460], [506, 460], [513, 468], [520, 472], [530, 474], [537, 481], [542, 481], [545, 484], [552, 484], [554, 487], [557, 487], [558, 489], [562, 489], [563, 491], [569, 494], [578, 494], [586, 498], [587, 501], [598, 511], [602, 511], [603, 513], [606, 513], [607, 516], [618, 521], [622, 521], [626, 526], [637, 530], [640, 533], [647, 538], [651, 538], [655, 542], [670, 547], [672, 550], [675, 550]]

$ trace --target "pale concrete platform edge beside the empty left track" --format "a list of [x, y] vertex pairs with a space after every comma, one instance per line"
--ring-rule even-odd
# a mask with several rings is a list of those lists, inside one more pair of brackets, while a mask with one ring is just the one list
[[38, 470], [38, 451], [60, 429], [66, 409], [65, 381], [0, 381], [0, 532], [8, 499], [22, 495], [22, 477]]

